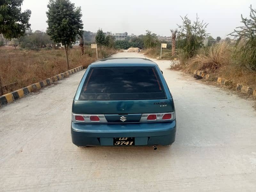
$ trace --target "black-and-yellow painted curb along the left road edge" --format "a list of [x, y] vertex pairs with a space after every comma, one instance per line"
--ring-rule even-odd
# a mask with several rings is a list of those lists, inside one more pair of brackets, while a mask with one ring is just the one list
[[21, 88], [19, 90], [16, 90], [14, 92], [11, 93], [7, 93], [3, 96], [0, 97], [0, 107], [3, 105], [7, 105], [8, 103], [13, 102], [14, 100], [20, 99], [26, 95], [28, 95], [29, 93], [39, 90], [47, 85], [52, 84], [53, 82], [59, 81], [65, 77], [68, 77], [70, 75], [72, 75], [73, 73], [76, 73], [78, 71], [83, 70], [84, 67], [80, 66], [74, 69], [71, 69], [69, 71], [66, 71], [64, 73], [60, 73], [59, 75], [56, 76], [52, 76], [48, 79], [45, 79], [43, 81], [40, 81], [38, 83], [34, 83], [32, 85], [28, 85], [27, 87]]

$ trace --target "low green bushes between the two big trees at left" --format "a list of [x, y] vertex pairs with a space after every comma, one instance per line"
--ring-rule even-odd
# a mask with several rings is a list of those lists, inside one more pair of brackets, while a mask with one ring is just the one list
[[36, 49], [44, 48], [46, 44], [51, 44], [52, 40], [50, 36], [41, 31], [36, 31], [29, 36], [23, 36], [19, 38], [19, 45], [22, 49]]

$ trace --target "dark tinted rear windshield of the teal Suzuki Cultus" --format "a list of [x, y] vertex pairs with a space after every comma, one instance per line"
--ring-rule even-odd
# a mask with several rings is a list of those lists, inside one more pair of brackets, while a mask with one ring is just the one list
[[80, 100], [166, 99], [154, 67], [91, 68]]

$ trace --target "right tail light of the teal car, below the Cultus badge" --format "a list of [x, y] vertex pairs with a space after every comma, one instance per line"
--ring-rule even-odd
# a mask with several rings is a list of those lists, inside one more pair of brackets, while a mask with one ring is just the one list
[[176, 118], [175, 111], [170, 113], [143, 113], [140, 122], [148, 121], [170, 121]]

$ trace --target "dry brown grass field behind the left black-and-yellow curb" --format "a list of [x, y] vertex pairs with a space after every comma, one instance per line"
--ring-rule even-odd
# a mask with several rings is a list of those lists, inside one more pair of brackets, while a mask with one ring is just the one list
[[[69, 66], [88, 66], [96, 60], [96, 50], [85, 47], [85, 54], [80, 55], [78, 47], [69, 51]], [[105, 58], [115, 50], [102, 48], [98, 50], [99, 59]], [[65, 51], [63, 49], [51, 49], [41, 51], [29, 51], [19, 49], [0, 48], [0, 76], [2, 77], [4, 94], [28, 86], [54, 75], [67, 71]]]

